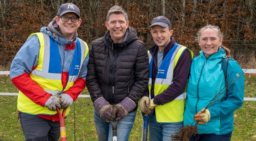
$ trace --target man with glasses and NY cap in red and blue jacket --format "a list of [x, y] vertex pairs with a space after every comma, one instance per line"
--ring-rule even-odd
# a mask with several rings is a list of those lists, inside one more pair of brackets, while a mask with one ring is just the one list
[[31, 34], [14, 57], [10, 77], [20, 90], [19, 120], [26, 141], [58, 141], [60, 111], [85, 88], [89, 48], [77, 36], [79, 8], [62, 4], [57, 16], [39, 33]]

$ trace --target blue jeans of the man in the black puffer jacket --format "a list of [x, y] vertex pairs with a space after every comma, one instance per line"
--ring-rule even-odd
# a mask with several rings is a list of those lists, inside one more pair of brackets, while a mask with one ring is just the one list
[[[118, 141], [128, 141], [136, 117], [136, 111], [128, 113], [117, 123]], [[115, 120], [115, 119], [114, 119]], [[104, 121], [94, 108], [94, 123], [98, 135], [98, 141], [113, 141], [112, 124]]]

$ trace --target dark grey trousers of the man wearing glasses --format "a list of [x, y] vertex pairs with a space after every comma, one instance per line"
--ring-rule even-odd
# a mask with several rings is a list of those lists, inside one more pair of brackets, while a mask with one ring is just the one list
[[20, 124], [26, 141], [58, 141], [60, 136], [59, 121], [50, 121], [19, 113]]

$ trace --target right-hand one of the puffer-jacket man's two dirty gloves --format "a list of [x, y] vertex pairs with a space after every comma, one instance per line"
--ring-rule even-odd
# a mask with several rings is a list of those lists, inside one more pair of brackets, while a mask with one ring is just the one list
[[130, 111], [136, 107], [136, 104], [130, 99], [125, 98], [120, 103], [116, 104], [114, 108], [116, 109], [116, 120], [123, 119]]

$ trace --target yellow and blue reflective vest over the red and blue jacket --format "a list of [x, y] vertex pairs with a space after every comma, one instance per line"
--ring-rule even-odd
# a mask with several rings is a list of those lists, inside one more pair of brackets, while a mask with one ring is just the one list
[[[40, 43], [39, 60], [37, 67], [29, 75], [44, 91], [57, 96], [63, 91], [67, 91], [72, 87], [74, 81], [77, 80], [89, 48], [83, 40], [77, 38], [76, 48], [74, 49], [74, 55], [70, 65], [68, 82], [66, 87], [63, 88], [61, 83], [62, 71], [60, 54], [57, 42], [46, 33], [33, 33], [29, 37], [34, 35], [37, 35]], [[46, 106], [42, 107], [36, 104], [21, 91], [19, 91], [18, 94], [17, 107], [18, 111], [31, 115], [55, 115], [57, 113], [56, 111], [50, 111]], [[61, 109], [61, 112], [62, 110], [63, 109]], [[68, 115], [68, 113], [69, 108], [66, 111], [66, 115]]]

